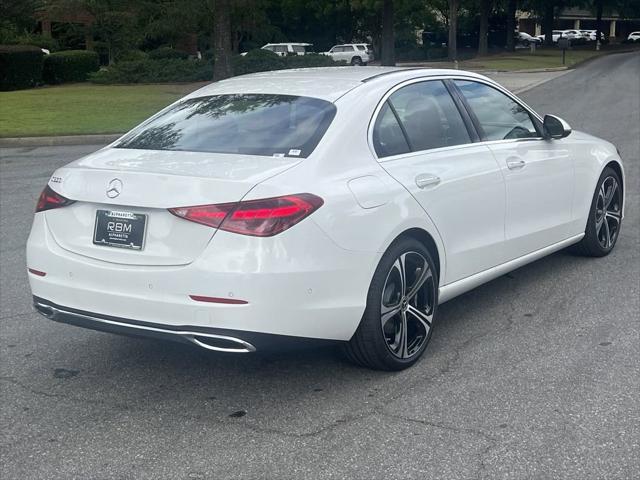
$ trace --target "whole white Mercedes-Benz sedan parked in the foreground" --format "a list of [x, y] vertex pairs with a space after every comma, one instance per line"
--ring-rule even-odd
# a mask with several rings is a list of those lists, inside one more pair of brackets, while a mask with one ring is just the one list
[[54, 172], [27, 245], [59, 322], [222, 352], [341, 341], [399, 370], [438, 304], [556, 250], [607, 255], [616, 148], [458, 70], [206, 86]]

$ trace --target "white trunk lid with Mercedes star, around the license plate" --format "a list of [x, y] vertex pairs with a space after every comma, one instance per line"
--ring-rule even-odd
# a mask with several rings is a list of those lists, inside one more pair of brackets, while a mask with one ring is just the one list
[[[255, 185], [300, 159], [108, 148], [56, 171], [49, 185], [76, 203], [45, 212], [62, 248], [127, 265], [185, 265], [208, 245], [214, 228], [167, 209], [240, 201]], [[94, 244], [99, 210], [143, 215], [141, 249]]]

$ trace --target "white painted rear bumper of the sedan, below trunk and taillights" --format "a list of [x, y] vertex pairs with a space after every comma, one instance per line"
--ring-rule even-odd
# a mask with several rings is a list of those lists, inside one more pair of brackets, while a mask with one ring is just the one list
[[[223, 336], [233, 331], [349, 340], [377, 262], [375, 253], [338, 247], [312, 221], [269, 238], [220, 231], [195, 261], [178, 266], [122, 265], [70, 252], [55, 242], [43, 214], [36, 214], [27, 243], [27, 266], [46, 272], [28, 275], [32, 294], [63, 307], [54, 320], [96, 328], [92, 318], [130, 319], [124, 323], [187, 333], [197, 327]], [[247, 303], [206, 303], [192, 295]], [[92, 318], [63, 315], [73, 311]], [[166, 332], [142, 333], [166, 338]]]

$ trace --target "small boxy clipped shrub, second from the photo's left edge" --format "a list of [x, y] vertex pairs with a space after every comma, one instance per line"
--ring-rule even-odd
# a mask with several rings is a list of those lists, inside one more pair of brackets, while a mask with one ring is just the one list
[[84, 82], [99, 68], [98, 54], [88, 50], [66, 50], [44, 59], [42, 76], [47, 83]]

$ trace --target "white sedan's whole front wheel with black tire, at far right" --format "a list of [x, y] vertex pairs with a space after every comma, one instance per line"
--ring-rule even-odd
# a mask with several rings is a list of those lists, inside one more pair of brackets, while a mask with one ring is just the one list
[[[622, 193], [618, 173], [605, 168], [591, 200], [585, 235], [574, 247], [576, 253], [587, 257], [604, 257], [611, 253], [622, 227]], [[610, 203], [607, 205], [607, 202]]]

